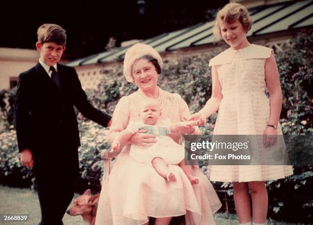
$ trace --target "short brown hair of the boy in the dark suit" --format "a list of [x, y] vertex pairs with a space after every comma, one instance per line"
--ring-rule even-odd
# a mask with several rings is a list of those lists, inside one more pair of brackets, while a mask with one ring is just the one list
[[43, 44], [44, 42], [53, 41], [56, 44], [65, 46], [66, 44], [66, 32], [57, 24], [44, 23], [38, 30], [38, 41]]

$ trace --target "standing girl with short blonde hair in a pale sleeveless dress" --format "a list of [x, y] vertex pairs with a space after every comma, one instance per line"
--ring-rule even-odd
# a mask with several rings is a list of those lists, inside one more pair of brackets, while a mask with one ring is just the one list
[[[213, 135], [263, 135], [260, 145], [264, 155], [267, 147], [277, 145], [277, 135], [282, 135], [278, 123], [282, 95], [273, 49], [249, 43], [246, 33], [251, 26], [248, 10], [240, 4], [229, 3], [218, 12], [214, 33], [230, 48], [210, 60], [212, 96], [189, 120], [203, 125], [218, 110]], [[253, 224], [265, 224], [268, 202], [265, 181], [291, 174], [292, 166], [277, 164], [208, 168], [210, 180], [233, 182], [235, 207], [242, 225], [251, 224], [249, 190]]]

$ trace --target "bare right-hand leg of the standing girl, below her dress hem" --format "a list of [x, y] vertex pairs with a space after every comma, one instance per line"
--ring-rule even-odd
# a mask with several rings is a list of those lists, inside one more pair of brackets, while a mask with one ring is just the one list
[[252, 218], [254, 223], [265, 223], [269, 199], [264, 181], [248, 182], [252, 199]]

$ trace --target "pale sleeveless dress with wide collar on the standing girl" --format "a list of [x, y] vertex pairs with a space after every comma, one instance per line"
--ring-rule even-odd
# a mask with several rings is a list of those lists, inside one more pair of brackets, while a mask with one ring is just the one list
[[[258, 157], [266, 162], [273, 160], [273, 154], [282, 151], [284, 145], [278, 141], [274, 146], [264, 148], [262, 144], [262, 135], [270, 118], [264, 65], [272, 53], [271, 48], [251, 44], [239, 50], [228, 48], [209, 63], [209, 66], [216, 67], [223, 95], [213, 134], [251, 135], [258, 145]], [[277, 132], [282, 135], [280, 124]], [[292, 166], [270, 163], [208, 167], [210, 180], [223, 182], [267, 181], [291, 174]]]

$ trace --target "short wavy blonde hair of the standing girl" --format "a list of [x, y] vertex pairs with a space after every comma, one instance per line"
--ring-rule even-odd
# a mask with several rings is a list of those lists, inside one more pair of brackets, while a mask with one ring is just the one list
[[235, 20], [239, 20], [247, 33], [252, 26], [252, 18], [249, 15], [248, 9], [238, 3], [229, 3], [218, 11], [215, 24], [213, 27], [214, 36], [221, 38], [219, 20], [226, 21], [227, 23], [232, 23]]

